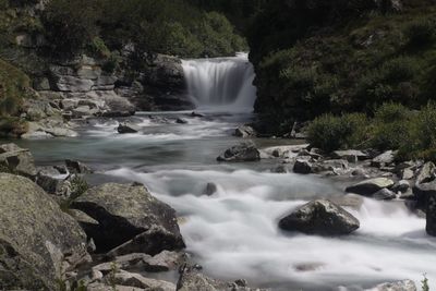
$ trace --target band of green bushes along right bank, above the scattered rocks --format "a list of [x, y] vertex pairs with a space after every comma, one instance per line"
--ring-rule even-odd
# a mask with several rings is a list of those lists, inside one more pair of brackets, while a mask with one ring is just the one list
[[384, 104], [366, 119], [362, 113], [331, 113], [308, 126], [308, 142], [327, 153], [348, 148], [398, 149], [399, 159], [436, 160], [436, 106], [420, 111]]

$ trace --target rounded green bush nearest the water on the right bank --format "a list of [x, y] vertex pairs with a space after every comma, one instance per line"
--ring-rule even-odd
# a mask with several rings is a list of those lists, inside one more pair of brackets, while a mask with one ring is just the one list
[[324, 114], [308, 126], [307, 141], [326, 153], [360, 147], [366, 141], [367, 119], [362, 113]]

